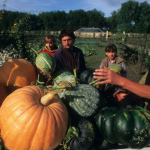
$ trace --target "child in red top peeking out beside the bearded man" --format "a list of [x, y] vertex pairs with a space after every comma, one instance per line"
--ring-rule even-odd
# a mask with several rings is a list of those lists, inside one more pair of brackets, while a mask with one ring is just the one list
[[56, 40], [54, 36], [47, 35], [45, 37], [45, 49], [43, 49], [40, 53], [46, 52], [50, 54], [51, 56], [54, 55], [54, 53], [58, 50], [58, 46], [56, 45]]

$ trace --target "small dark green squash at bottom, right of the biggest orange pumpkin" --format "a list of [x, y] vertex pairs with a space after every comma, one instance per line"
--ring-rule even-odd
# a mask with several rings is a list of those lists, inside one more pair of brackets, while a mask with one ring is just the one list
[[[75, 130], [75, 129], [76, 130]], [[87, 119], [80, 119], [78, 127], [71, 127], [71, 130], [79, 131], [73, 132], [74, 135], [69, 142], [70, 150], [88, 150], [95, 139], [95, 133], [92, 123]]]

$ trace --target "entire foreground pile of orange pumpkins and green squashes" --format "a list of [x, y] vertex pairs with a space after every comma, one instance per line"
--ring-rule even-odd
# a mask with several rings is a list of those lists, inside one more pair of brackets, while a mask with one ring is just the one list
[[[138, 149], [149, 144], [149, 111], [103, 104], [99, 89], [91, 84], [94, 70], [82, 72], [77, 79], [64, 70], [53, 74], [55, 67], [52, 57], [39, 54], [36, 67], [14, 59], [0, 68], [0, 130], [8, 149]], [[50, 74], [52, 88], [35, 82], [36, 68]]]

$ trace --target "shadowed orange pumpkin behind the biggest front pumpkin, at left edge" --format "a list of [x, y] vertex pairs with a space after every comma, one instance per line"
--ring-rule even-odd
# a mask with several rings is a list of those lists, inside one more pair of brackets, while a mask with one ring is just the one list
[[25, 59], [9, 59], [0, 67], [0, 83], [8, 93], [36, 81], [35, 67]]

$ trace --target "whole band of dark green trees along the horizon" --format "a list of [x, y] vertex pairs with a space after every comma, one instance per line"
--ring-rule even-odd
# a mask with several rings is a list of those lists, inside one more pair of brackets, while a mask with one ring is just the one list
[[[4, 11], [3, 19], [0, 22], [1, 30], [10, 30], [14, 23], [23, 18], [26, 13]], [[82, 28], [100, 28], [110, 30], [113, 33], [150, 33], [150, 4], [147, 1], [139, 3], [129, 0], [122, 3], [121, 8], [113, 11], [110, 17], [104, 17], [104, 13], [97, 10], [84, 11], [70, 10], [50, 11], [31, 14], [30, 19], [20, 26], [21, 30], [51, 30], [60, 31], [63, 28], [71, 28], [74, 31]]]

